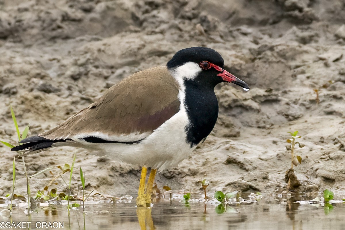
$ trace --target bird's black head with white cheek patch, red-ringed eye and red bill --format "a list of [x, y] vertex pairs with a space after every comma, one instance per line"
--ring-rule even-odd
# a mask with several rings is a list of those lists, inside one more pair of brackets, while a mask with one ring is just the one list
[[215, 87], [220, 82], [232, 82], [245, 89], [248, 85], [223, 69], [224, 59], [207, 47], [191, 47], [178, 51], [167, 63], [177, 79], [203, 87]]

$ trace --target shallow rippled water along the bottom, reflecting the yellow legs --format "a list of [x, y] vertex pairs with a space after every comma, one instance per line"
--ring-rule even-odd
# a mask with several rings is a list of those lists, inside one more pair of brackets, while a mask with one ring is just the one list
[[[10, 229], [345, 229], [344, 203], [326, 208], [321, 204], [294, 203], [311, 199], [313, 197], [263, 196], [256, 203], [227, 205], [226, 211], [225, 207], [217, 208], [216, 204], [185, 204], [178, 199], [172, 202], [169, 199], [156, 199], [152, 201], [152, 208], [136, 208], [133, 199], [132, 203], [87, 204], [85, 215], [82, 208], [78, 208], [70, 210], [70, 217], [66, 206], [61, 204], [37, 208], [30, 217], [23, 212], [24, 208], [15, 207], [12, 221], [31, 224], [30, 228], [26, 224], [23, 228]], [[0, 221], [10, 221], [10, 218], [2, 212]], [[60, 228], [55, 228], [57, 222], [60, 222]], [[1, 223], [0, 227], [8, 229]]]

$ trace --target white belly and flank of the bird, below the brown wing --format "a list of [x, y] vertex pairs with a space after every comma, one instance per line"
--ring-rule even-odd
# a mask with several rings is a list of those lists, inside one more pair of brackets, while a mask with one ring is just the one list
[[97, 147], [115, 160], [159, 169], [176, 166], [195, 147], [186, 143], [188, 117], [181, 109], [139, 144], [101, 143]]

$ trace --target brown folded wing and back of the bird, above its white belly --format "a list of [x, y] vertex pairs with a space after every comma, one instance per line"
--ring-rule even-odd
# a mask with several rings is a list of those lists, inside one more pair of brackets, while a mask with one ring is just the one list
[[90, 133], [150, 134], [179, 111], [178, 93], [178, 83], [166, 67], [144, 70], [120, 81], [89, 107], [39, 136], [57, 140]]

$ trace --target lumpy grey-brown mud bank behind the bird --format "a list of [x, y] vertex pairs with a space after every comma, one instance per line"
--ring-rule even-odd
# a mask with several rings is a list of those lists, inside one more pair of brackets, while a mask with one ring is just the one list
[[[188, 159], [157, 175], [158, 187], [201, 191], [281, 192], [290, 167], [288, 131], [304, 148], [295, 167], [301, 191], [344, 191], [345, 9], [343, 1], [1, 1], [0, 139], [16, 143], [9, 112], [29, 135], [49, 130], [121, 79], [165, 65], [183, 48], [207, 46], [248, 92], [216, 88], [217, 124]], [[319, 96], [316, 97], [315, 89]], [[16, 154], [0, 144], [0, 194], [10, 193]], [[86, 172], [87, 189], [137, 191], [139, 167], [86, 150], [55, 148], [27, 157], [28, 173], [71, 164]], [[53, 169], [57, 173], [59, 169]], [[17, 162], [17, 193], [25, 193]], [[52, 176], [31, 179], [42, 189]], [[77, 190], [79, 177], [73, 176]], [[59, 191], [66, 191], [61, 179]], [[76, 191], [75, 191], [76, 193]]]

